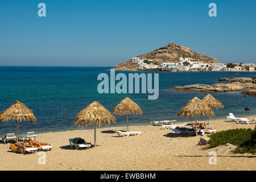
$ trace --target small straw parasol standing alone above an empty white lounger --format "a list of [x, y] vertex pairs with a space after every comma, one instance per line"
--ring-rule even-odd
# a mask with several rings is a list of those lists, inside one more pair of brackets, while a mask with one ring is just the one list
[[114, 107], [112, 112], [115, 115], [126, 115], [126, 125], [128, 131], [128, 114], [140, 114], [142, 115], [141, 107], [139, 107], [133, 100], [129, 97], [124, 98], [118, 105]]

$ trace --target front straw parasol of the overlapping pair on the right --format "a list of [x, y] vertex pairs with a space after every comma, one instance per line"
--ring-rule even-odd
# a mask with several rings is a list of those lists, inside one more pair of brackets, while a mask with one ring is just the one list
[[201, 101], [199, 98], [194, 97], [187, 104], [185, 104], [180, 111], [177, 113], [177, 116], [185, 116], [185, 117], [196, 117], [196, 135], [197, 135], [197, 117], [200, 115], [208, 115], [208, 117], [213, 117], [214, 113], [212, 109]]

